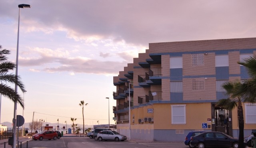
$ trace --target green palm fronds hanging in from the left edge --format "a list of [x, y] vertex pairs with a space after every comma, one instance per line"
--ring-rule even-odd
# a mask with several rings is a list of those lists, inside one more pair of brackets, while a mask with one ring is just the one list
[[2, 49], [2, 46], [0, 45], [0, 94], [4, 97], [8, 97], [13, 102], [20, 103], [22, 108], [24, 108], [22, 97], [17, 92], [15, 92], [14, 89], [7, 85], [8, 83], [12, 83], [17, 85], [23, 93], [26, 91], [20, 76], [16, 77], [16, 75], [8, 73], [10, 70], [14, 70], [16, 68], [16, 64], [10, 61], [6, 61], [6, 55], [8, 54], [10, 54], [10, 51], [7, 49]]

